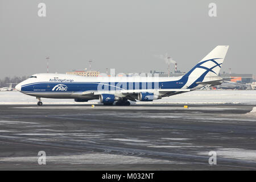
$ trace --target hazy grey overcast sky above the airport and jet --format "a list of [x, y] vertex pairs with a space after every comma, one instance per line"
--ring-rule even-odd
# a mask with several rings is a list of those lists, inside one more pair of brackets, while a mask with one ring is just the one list
[[[38, 4], [46, 3], [46, 17]], [[209, 17], [209, 3], [217, 17]], [[187, 72], [229, 45], [221, 72], [256, 75], [256, 1], [0, 0], [0, 78], [89, 68], [167, 72], [168, 53]], [[172, 65], [172, 70], [173, 70]]]

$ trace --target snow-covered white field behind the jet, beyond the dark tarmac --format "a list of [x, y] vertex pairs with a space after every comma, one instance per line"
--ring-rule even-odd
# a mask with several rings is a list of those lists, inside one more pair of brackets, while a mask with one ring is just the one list
[[[35, 97], [20, 92], [0, 92], [0, 105], [36, 104]], [[98, 104], [98, 100], [75, 102], [72, 99], [42, 98], [43, 104]], [[252, 104], [256, 105], [256, 90], [198, 90], [153, 102], [133, 102], [132, 104]]]

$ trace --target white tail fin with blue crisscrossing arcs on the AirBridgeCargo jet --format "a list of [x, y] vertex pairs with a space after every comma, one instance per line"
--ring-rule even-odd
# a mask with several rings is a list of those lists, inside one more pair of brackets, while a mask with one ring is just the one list
[[197, 86], [196, 82], [201, 82], [205, 77], [216, 77], [220, 69], [229, 46], [217, 46], [207, 56], [204, 57], [195, 67], [184, 75], [187, 77], [188, 88]]

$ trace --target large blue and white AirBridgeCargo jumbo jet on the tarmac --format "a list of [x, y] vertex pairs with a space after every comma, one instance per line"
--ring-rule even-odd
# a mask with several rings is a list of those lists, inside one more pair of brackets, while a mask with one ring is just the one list
[[104, 105], [130, 105], [129, 101], [153, 101], [220, 85], [218, 76], [229, 46], [217, 46], [189, 72], [179, 77], [84, 77], [58, 73], [32, 75], [16, 90], [38, 99], [73, 98], [76, 102], [99, 99]]

